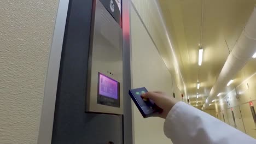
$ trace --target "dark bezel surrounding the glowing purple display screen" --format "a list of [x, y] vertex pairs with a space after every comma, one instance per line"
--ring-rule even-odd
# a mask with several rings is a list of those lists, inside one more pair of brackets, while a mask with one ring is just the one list
[[[100, 75], [103, 75], [105, 77], [107, 77], [108, 79], [110, 80], [113, 80], [115, 82], [117, 82], [117, 99], [115, 98], [110, 98], [110, 97], [107, 97], [105, 95], [101, 95], [100, 94]], [[99, 73], [98, 72], [98, 83], [97, 83], [97, 104], [101, 104], [101, 105], [107, 105], [107, 106], [113, 106], [113, 107], [120, 107], [120, 82], [117, 81], [117, 80], [114, 80], [112, 79], [111, 77], [109, 76], [106, 76], [102, 73]]]

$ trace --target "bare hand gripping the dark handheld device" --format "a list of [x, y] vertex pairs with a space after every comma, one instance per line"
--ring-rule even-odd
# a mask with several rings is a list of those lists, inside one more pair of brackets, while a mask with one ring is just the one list
[[166, 95], [163, 92], [147, 92], [141, 95], [142, 98], [151, 99], [158, 105], [162, 112], [159, 117], [166, 118], [172, 107], [178, 103], [178, 100]]

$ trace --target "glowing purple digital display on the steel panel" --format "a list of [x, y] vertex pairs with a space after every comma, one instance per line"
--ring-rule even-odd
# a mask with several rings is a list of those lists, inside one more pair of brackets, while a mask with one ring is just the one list
[[99, 74], [98, 93], [108, 98], [118, 99], [118, 82]]

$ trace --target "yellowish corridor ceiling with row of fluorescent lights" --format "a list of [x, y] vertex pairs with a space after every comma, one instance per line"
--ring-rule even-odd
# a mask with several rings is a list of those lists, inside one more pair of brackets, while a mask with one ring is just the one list
[[[201, 106], [216, 82], [229, 50], [245, 27], [256, 0], [159, 0], [159, 4], [174, 39], [173, 47], [191, 105], [196, 105], [198, 93], [198, 105]], [[203, 49], [201, 66], [198, 65], [199, 44]], [[252, 59], [243, 69], [255, 73], [255, 62]], [[238, 73], [237, 79], [242, 75]], [[200, 89], [196, 88], [197, 81], [201, 84]], [[241, 81], [234, 81], [225, 93]]]

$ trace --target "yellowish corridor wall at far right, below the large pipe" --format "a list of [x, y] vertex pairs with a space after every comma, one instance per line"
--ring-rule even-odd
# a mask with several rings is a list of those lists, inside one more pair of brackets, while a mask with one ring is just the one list
[[[219, 102], [216, 103], [216, 112], [220, 113], [220, 120], [222, 120], [222, 112], [224, 111], [228, 112], [228, 117], [232, 116], [232, 108], [236, 124], [234, 124], [232, 117], [229, 117], [229, 124], [232, 127], [236, 127], [236, 129], [243, 131], [244, 133], [254, 138], [256, 137], [256, 127], [249, 102], [252, 102], [252, 104], [255, 105], [255, 63], [256, 59], [252, 58], [247, 62], [243, 69], [238, 71], [235, 77], [236, 79], [234, 79], [234, 83], [229, 88], [226, 88], [226, 93], [222, 93], [223, 96], [219, 98]], [[234, 89], [230, 92], [230, 88]]]

